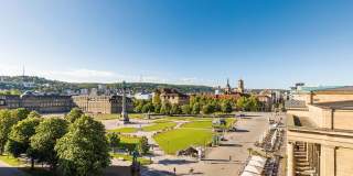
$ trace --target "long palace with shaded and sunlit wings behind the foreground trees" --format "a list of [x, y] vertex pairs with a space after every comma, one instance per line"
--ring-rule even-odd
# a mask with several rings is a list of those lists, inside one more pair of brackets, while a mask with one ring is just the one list
[[[121, 112], [122, 96], [61, 96], [26, 91], [21, 96], [0, 95], [0, 109], [25, 108], [40, 113], [64, 113], [78, 107], [87, 113]], [[133, 109], [132, 100], [127, 98], [127, 110]]]

